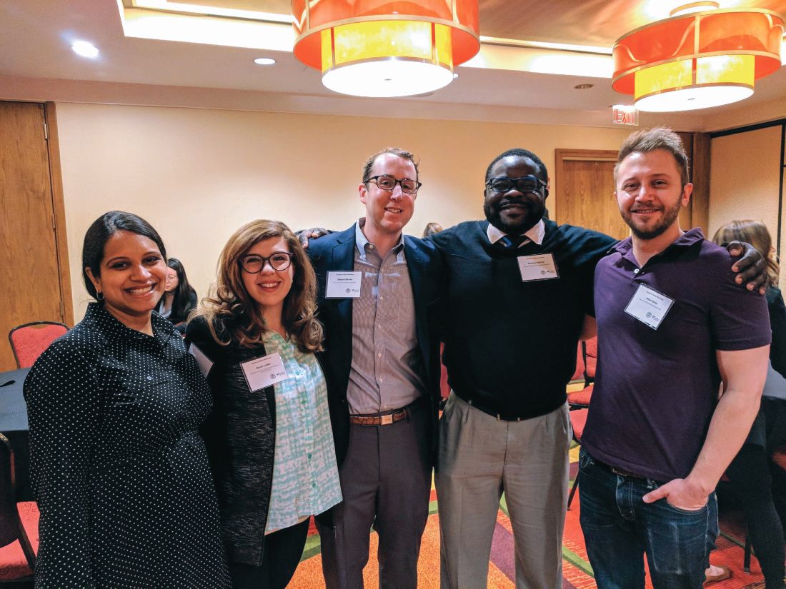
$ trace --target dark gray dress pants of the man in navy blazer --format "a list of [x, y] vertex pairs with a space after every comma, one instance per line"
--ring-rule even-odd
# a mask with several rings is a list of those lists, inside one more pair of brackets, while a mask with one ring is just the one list
[[339, 469], [343, 501], [333, 509], [332, 529], [318, 524], [327, 589], [362, 589], [372, 527], [379, 535], [380, 588], [417, 589], [432, 486], [429, 419], [421, 406], [389, 425], [350, 425]]

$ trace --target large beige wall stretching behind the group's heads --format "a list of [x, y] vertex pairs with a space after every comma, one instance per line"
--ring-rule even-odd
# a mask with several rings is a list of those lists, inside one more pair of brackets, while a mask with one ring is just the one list
[[[367, 155], [387, 145], [421, 160], [408, 229], [483, 217], [495, 155], [531, 149], [553, 173], [555, 148], [617, 149], [629, 129], [374, 119], [338, 115], [57, 104], [75, 320], [84, 313], [82, 239], [107, 210], [140, 214], [180, 258], [200, 296], [222, 245], [253, 218], [345, 229], [363, 214]], [[549, 199], [552, 214], [553, 199]]]

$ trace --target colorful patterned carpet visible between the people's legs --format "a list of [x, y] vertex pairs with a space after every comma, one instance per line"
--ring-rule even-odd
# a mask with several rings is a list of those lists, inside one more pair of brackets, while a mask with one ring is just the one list
[[[578, 448], [571, 450], [571, 477], [575, 476]], [[431, 515], [428, 518], [426, 531], [421, 545], [421, 558], [418, 565], [419, 589], [439, 589], [439, 523], [437, 521], [436, 495], [432, 489]], [[592, 568], [587, 561], [586, 549], [581, 527], [578, 524], [578, 494], [575, 496], [571, 510], [567, 512], [565, 533], [562, 543], [563, 589], [589, 589], [595, 587]], [[751, 558], [751, 574], [743, 571], [744, 527], [738, 517], [722, 515], [722, 536], [718, 538], [718, 550], [711, 556], [713, 564], [724, 564], [733, 570], [733, 577], [720, 583], [711, 584], [714, 589], [754, 589], [764, 587], [764, 580], [758, 568], [758, 562]], [[365, 567], [365, 587], [377, 587], [376, 578], [376, 534], [371, 535], [371, 554], [369, 565]], [[491, 547], [489, 565], [489, 589], [515, 589], [513, 565], [512, 529], [506, 513], [503, 497], [497, 516], [497, 529], [494, 532], [494, 543]], [[319, 556], [319, 536], [310, 533], [303, 552], [303, 560], [289, 584], [290, 589], [324, 589], [321, 562]], [[652, 584], [647, 580], [647, 587]]]

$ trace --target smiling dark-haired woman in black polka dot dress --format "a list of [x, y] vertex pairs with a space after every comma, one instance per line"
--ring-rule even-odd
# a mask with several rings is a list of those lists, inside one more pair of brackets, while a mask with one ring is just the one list
[[208, 386], [172, 324], [151, 311], [161, 238], [111, 211], [87, 230], [84, 319], [24, 382], [41, 520], [35, 587], [230, 587], [197, 427]]

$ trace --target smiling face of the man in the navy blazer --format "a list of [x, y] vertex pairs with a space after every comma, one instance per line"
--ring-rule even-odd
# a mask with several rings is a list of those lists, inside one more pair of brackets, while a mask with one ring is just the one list
[[[391, 153], [383, 153], [376, 158], [371, 166], [369, 177], [387, 174], [396, 180], [409, 178], [417, 180], [415, 164], [410, 159]], [[399, 236], [404, 225], [410, 222], [415, 211], [415, 194], [401, 191], [396, 184], [393, 190], [383, 190], [374, 182], [366, 182], [358, 186], [360, 202], [365, 204], [365, 225], [363, 232], [373, 242], [373, 236]]]

